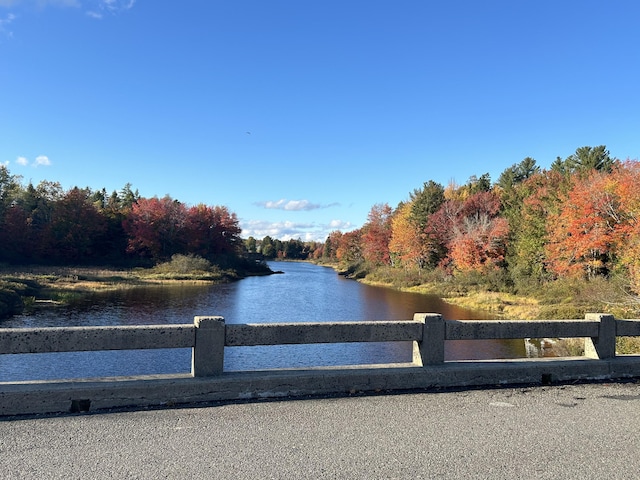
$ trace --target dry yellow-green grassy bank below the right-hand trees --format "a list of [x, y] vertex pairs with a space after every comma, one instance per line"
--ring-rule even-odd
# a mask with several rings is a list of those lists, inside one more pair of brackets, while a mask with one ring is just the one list
[[[584, 318], [586, 313], [610, 313], [616, 318], [638, 318], [640, 299], [627, 293], [624, 280], [559, 280], [527, 288], [507, 288], [501, 277], [416, 272], [395, 268], [366, 271], [362, 266], [341, 269], [351, 278], [405, 292], [437, 295], [445, 302], [469, 310], [491, 312], [510, 320]], [[562, 339], [554, 347], [566, 355], [581, 355], [584, 342]], [[640, 337], [620, 337], [618, 353], [640, 353]]]

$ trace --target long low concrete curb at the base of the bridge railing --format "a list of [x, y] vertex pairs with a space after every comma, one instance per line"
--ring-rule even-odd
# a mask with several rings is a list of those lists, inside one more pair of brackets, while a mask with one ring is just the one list
[[0, 416], [352, 392], [541, 384], [640, 377], [637, 357], [522, 359], [0, 383]]

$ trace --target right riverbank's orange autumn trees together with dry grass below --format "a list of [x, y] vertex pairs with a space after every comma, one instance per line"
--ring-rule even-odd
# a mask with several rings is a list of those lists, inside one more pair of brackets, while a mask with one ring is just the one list
[[434, 293], [508, 318], [637, 315], [640, 163], [581, 147], [548, 170], [525, 158], [464, 185], [432, 180], [362, 228], [332, 232], [319, 260], [347, 276]]

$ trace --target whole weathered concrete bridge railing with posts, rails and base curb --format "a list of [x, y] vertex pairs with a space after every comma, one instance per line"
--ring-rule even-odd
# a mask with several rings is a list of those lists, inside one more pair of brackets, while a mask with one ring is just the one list
[[[617, 336], [640, 320], [587, 314], [578, 320], [444, 320], [193, 324], [0, 329], [0, 355], [191, 348], [190, 374], [0, 383], [0, 415], [346, 392], [640, 377], [640, 356], [616, 356]], [[585, 357], [445, 362], [447, 340], [585, 338]], [[257, 372], [224, 371], [225, 347], [413, 342], [411, 362]]]

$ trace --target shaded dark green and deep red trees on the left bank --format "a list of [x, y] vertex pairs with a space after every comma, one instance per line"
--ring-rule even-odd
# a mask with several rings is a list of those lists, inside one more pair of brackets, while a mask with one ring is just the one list
[[175, 254], [242, 253], [235, 213], [224, 206], [143, 198], [130, 184], [105, 189], [42, 181], [24, 185], [0, 165], [0, 262], [153, 264]]

